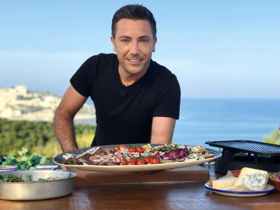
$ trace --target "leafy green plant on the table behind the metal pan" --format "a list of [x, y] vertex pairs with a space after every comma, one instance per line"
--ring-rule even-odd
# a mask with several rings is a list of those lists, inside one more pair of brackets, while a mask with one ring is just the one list
[[3, 165], [16, 165], [18, 169], [26, 168], [33, 169], [37, 167], [38, 163], [44, 163], [47, 160], [47, 157], [31, 154], [29, 157], [26, 156], [27, 149], [22, 148], [16, 155], [10, 157], [4, 157], [6, 161], [2, 162]]

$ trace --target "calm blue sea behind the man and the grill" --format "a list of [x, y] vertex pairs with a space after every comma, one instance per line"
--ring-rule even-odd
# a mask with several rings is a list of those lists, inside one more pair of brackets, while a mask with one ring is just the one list
[[172, 141], [218, 150], [205, 142], [263, 142], [279, 126], [280, 99], [181, 98]]

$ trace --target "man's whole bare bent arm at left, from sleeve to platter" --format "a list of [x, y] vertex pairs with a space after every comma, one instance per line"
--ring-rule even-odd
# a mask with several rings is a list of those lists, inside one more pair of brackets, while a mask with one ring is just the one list
[[55, 133], [62, 151], [78, 149], [75, 140], [74, 116], [86, 102], [87, 97], [79, 94], [72, 85], [66, 90], [54, 116]]

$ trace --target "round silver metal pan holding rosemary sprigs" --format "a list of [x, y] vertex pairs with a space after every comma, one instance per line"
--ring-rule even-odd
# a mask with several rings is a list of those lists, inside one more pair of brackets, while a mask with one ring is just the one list
[[13, 174], [21, 176], [26, 181], [26, 175], [31, 174], [33, 180], [37, 178], [59, 177], [60, 180], [6, 183], [0, 182], [0, 199], [5, 200], [44, 200], [69, 195], [74, 190], [75, 173], [71, 178], [65, 178], [69, 172], [60, 170], [23, 170], [3, 172], [2, 175]]

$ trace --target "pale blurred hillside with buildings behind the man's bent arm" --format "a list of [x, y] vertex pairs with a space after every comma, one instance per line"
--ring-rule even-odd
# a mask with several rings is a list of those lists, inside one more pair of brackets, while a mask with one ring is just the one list
[[[24, 85], [0, 89], [0, 118], [53, 121], [62, 97], [48, 92], [27, 90]], [[74, 120], [94, 120], [95, 108], [84, 104]]]

